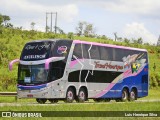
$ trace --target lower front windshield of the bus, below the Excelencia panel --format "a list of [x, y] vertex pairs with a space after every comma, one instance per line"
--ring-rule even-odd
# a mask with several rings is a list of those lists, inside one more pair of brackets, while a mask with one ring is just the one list
[[19, 65], [18, 84], [41, 84], [47, 82], [48, 71], [41, 65]]

